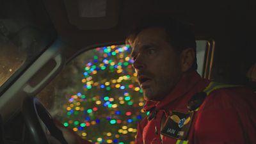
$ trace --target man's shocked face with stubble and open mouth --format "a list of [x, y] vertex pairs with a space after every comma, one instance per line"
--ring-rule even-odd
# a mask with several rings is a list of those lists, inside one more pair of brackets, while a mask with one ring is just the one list
[[132, 45], [133, 67], [138, 73], [145, 99], [162, 100], [182, 75], [179, 54], [174, 51], [161, 28], [144, 29]]

